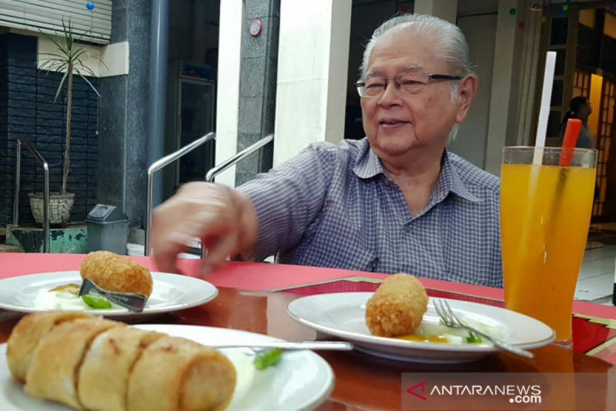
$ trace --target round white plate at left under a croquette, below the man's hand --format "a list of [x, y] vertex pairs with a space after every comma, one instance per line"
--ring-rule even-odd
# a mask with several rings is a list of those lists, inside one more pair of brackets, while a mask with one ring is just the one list
[[[143, 319], [154, 314], [198, 306], [218, 295], [218, 289], [213, 284], [201, 279], [164, 272], [152, 272], [151, 274], [152, 295], [145, 303], [143, 312], [131, 312], [124, 308], [84, 309], [84, 311], [122, 320]], [[81, 284], [79, 271], [46, 272], [0, 280], [0, 308], [17, 312], [46, 311], [34, 304], [39, 290], [48, 291], [68, 283]]]

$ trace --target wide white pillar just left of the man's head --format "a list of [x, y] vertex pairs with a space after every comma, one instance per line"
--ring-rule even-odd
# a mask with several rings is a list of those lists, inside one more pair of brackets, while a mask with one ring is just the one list
[[344, 136], [351, 0], [282, 0], [274, 166]]

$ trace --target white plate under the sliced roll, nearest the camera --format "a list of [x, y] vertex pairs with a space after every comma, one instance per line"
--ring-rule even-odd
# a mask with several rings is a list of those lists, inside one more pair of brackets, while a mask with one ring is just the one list
[[[202, 344], [254, 344], [276, 341], [267, 335], [229, 328], [196, 325], [137, 325], [181, 336]], [[285, 352], [282, 360], [264, 371], [257, 371], [252, 357], [241, 349], [224, 349], [237, 370], [236, 392], [227, 411], [294, 411], [310, 410], [330, 395], [334, 373], [330, 365], [312, 351]], [[68, 411], [71, 408], [54, 402], [39, 401], [23, 392], [23, 386], [10, 375], [6, 364], [6, 344], [0, 345], [0, 410]]]

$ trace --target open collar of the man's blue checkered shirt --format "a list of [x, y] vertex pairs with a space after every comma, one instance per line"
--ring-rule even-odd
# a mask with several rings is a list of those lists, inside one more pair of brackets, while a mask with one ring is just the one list
[[[353, 167], [353, 171], [357, 177], [361, 179], [369, 179], [378, 174], [385, 174], [381, 160], [379, 160], [375, 152], [372, 151], [370, 144], [368, 144], [367, 153], [357, 161], [357, 164]], [[428, 208], [445, 200], [445, 197], [447, 197], [450, 192], [468, 201], [479, 201], [479, 198], [472, 195], [466, 185], [464, 185], [460, 179], [460, 175], [453, 167], [449, 153], [445, 150], [441, 161], [439, 181], [436, 184], [436, 189], [434, 190]]]

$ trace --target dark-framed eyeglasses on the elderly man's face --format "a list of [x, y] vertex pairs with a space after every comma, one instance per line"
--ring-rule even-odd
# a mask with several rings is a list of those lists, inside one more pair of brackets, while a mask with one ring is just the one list
[[355, 83], [360, 97], [381, 96], [389, 80], [394, 80], [395, 88], [403, 94], [419, 94], [424, 91], [432, 80], [460, 80], [461, 76], [449, 76], [444, 74], [428, 74], [424, 71], [404, 71], [393, 77], [368, 76], [365, 81]]

